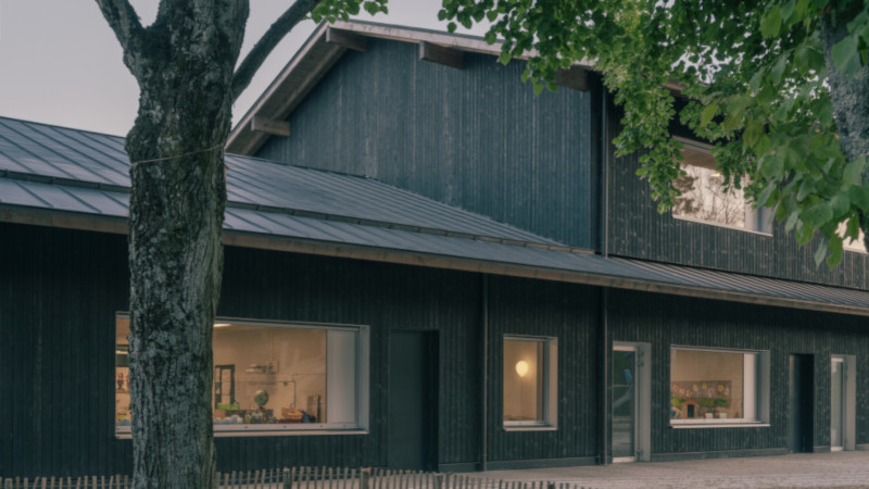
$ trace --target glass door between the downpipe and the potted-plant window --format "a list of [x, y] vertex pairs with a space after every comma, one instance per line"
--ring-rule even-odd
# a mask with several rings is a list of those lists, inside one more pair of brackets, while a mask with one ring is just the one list
[[637, 456], [637, 348], [613, 348], [613, 462]]

